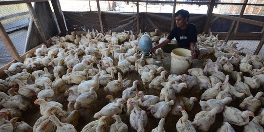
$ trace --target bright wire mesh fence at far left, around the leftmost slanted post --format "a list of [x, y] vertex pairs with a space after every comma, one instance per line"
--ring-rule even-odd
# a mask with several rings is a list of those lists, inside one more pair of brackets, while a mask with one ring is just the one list
[[[0, 6], [0, 22], [20, 55], [24, 53], [30, 18], [31, 15], [25, 3]], [[13, 60], [1, 40], [0, 52], [0, 66]]]

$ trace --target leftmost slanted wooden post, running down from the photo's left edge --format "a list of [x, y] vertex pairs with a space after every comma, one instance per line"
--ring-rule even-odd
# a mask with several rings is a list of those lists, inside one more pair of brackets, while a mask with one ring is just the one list
[[0, 38], [7, 47], [7, 50], [9, 51], [10, 55], [18, 62], [23, 62], [16, 47], [12, 43], [11, 39], [9, 38], [8, 34], [4, 30], [4, 27], [2, 23], [0, 22]]

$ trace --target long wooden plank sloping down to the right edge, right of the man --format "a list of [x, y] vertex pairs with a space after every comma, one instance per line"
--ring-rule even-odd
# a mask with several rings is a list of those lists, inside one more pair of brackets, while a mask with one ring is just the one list
[[225, 19], [230, 19], [230, 20], [235, 20], [235, 21], [239, 21], [239, 22], [244, 22], [244, 23], [248, 23], [248, 24], [258, 25], [258, 26], [264, 26], [264, 22], [259, 22], [259, 21], [255, 21], [255, 20], [243, 19], [243, 18], [239, 18], [239, 17], [233, 17], [233, 16], [221, 15], [221, 14], [213, 14], [213, 16], [225, 18]]

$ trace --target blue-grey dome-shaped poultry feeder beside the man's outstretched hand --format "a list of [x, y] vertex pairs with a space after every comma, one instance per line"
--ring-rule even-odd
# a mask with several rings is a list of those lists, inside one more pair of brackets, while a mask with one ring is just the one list
[[152, 40], [151, 40], [151, 37], [147, 33], [141, 36], [138, 47], [141, 50], [141, 51], [138, 51], [139, 56], [141, 56], [142, 54], [145, 54], [145, 57], [152, 56], [152, 52], [150, 51], [153, 48]]

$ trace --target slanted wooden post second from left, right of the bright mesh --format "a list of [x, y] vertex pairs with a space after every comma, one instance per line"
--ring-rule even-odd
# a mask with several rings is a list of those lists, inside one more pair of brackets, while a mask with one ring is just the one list
[[49, 47], [49, 44], [47, 44], [47, 41], [46, 41], [45, 34], [42, 31], [42, 28], [41, 28], [41, 25], [40, 25], [40, 21], [37, 18], [36, 12], [34, 11], [34, 8], [33, 8], [32, 4], [31, 3], [26, 3], [26, 5], [27, 5], [27, 7], [29, 9], [29, 12], [30, 12], [30, 14], [32, 16], [33, 22], [35, 23], [35, 25], [36, 25], [36, 27], [37, 27], [37, 29], [39, 31], [42, 43]]

